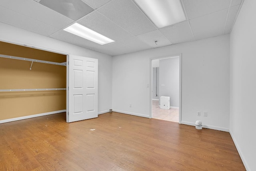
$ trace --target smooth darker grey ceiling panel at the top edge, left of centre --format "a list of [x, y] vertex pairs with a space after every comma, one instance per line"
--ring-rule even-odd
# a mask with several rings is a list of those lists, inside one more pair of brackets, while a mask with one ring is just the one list
[[81, 0], [40, 0], [39, 3], [72, 20], [78, 20], [94, 10]]

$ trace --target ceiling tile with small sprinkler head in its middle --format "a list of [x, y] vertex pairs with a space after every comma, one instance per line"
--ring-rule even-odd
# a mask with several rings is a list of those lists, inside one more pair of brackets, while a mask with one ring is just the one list
[[138, 35], [137, 38], [152, 48], [158, 48], [172, 44], [159, 30]]

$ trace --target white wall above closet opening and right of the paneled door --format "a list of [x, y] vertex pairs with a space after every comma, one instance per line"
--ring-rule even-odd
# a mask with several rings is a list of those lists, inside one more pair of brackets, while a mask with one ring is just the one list
[[98, 59], [98, 112], [112, 108], [112, 57], [0, 22], [0, 41]]

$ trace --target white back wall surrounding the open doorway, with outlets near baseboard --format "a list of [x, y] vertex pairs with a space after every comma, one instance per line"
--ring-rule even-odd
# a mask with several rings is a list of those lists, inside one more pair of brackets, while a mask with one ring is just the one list
[[[182, 123], [229, 129], [229, 35], [113, 57], [112, 108], [150, 117], [150, 58], [182, 53]], [[132, 104], [132, 107], [129, 107]], [[198, 117], [197, 111], [208, 111]]]

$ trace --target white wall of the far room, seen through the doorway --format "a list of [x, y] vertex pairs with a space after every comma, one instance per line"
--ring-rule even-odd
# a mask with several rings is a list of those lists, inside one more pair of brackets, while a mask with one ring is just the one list
[[[162, 86], [164, 84], [164, 86]], [[170, 97], [170, 106], [179, 107], [180, 59], [168, 58], [159, 62], [159, 96]], [[160, 99], [161, 103], [161, 99]]]

